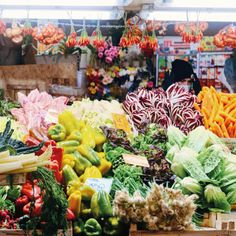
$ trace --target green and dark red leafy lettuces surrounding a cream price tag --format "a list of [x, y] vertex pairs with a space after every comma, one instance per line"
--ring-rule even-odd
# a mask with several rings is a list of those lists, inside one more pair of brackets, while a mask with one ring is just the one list
[[[136, 190], [146, 192], [143, 184], [155, 180], [166, 183], [171, 180], [170, 165], [165, 159], [167, 136], [165, 131], [156, 124], [150, 124], [142, 130], [143, 133], [130, 141], [122, 130], [102, 127], [108, 142], [104, 145], [107, 160], [112, 163], [113, 186], [111, 195], [117, 190], [127, 189], [130, 194]], [[136, 167], [124, 163], [122, 154], [145, 156], [150, 167]]]

